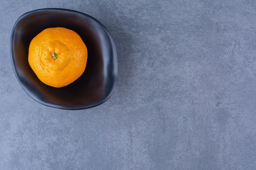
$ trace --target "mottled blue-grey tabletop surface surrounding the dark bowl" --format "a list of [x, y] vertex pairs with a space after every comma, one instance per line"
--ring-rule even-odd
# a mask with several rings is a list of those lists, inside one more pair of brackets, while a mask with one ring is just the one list
[[[87, 110], [38, 104], [10, 61], [11, 29], [48, 7], [112, 34], [118, 83]], [[256, 1], [0, 1], [0, 170], [255, 170]]]

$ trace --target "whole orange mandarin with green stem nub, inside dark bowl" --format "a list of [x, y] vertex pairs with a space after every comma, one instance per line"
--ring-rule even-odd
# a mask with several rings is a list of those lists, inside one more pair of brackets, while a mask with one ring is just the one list
[[38, 79], [58, 88], [83, 74], [87, 55], [87, 48], [76, 32], [55, 27], [43, 30], [31, 40], [28, 62]]

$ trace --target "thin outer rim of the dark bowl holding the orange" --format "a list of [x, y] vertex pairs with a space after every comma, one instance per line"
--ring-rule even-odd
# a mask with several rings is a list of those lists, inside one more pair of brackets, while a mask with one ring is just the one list
[[[114, 57], [112, 57], [112, 60], [113, 60], [113, 63], [114, 63], [113, 64], [114, 67], [112, 68], [113, 69], [113, 71], [112, 71], [113, 74], [112, 75], [113, 75], [114, 79], [113, 79], [113, 85], [111, 87], [111, 90], [110, 90], [110, 92], [108, 93], [108, 95], [106, 97], [103, 96], [103, 98], [101, 98], [99, 101], [94, 102], [92, 104], [81, 105], [81, 106], [65, 106], [65, 105], [59, 105], [59, 104], [53, 104], [53, 103], [49, 103], [49, 102], [44, 102], [44, 101], [38, 99], [37, 97], [33, 97], [33, 93], [31, 93], [31, 91], [27, 90], [27, 86], [25, 86], [25, 84], [22, 83], [22, 81], [21, 81], [21, 79], [20, 79], [20, 77], [18, 75], [16, 66], [15, 66], [16, 64], [15, 64], [15, 62], [13, 60], [14, 59], [14, 54], [13, 54], [13, 37], [14, 37], [14, 32], [16, 30], [17, 25], [19, 24], [19, 22], [23, 18], [25, 18], [28, 15], [31, 15], [33, 13], [38, 13], [38, 12], [43, 12], [43, 11], [51, 11], [51, 12], [55, 12], [55, 11], [57, 11], [57, 12], [68, 11], [70, 13], [76, 13], [76, 14], [84, 15], [85, 17], [90, 18], [90, 20], [94, 20], [94, 22], [99, 24], [103, 28], [103, 30], [107, 33], [109, 41], [110, 41], [110, 44], [113, 47], [112, 51], [114, 53], [113, 54]], [[18, 19], [16, 20], [15, 24], [13, 25], [13, 28], [12, 28], [12, 31], [11, 31], [10, 56], [11, 56], [11, 64], [12, 64], [14, 75], [16, 76], [16, 79], [18, 80], [18, 83], [23, 88], [23, 90], [27, 93], [27, 95], [29, 95], [29, 97], [34, 99], [36, 102], [38, 102], [40, 104], [43, 104], [45, 106], [52, 107], [52, 108], [59, 108], [59, 109], [64, 109], [64, 110], [82, 110], [82, 109], [88, 109], [88, 108], [93, 108], [93, 107], [99, 106], [99, 105], [103, 104], [104, 102], [106, 102], [110, 98], [110, 96], [115, 91], [115, 88], [117, 86], [118, 62], [117, 62], [117, 49], [116, 49], [115, 42], [114, 42], [110, 32], [108, 31], [108, 29], [106, 29], [106, 27], [101, 22], [99, 22], [99, 20], [95, 19], [91, 15], [88, 15], [88, 14], [80, 12], [80, 11], [75, 11], [75, 10], [72, 10], [72, 9], [64, 9], [64, 8], [42, 8], [42, 9], [35, 9], [35, 10], [32, 10], [32, 11], [28, 11], [28, 12], [20, 15], [20, 17], [18, 17]]]

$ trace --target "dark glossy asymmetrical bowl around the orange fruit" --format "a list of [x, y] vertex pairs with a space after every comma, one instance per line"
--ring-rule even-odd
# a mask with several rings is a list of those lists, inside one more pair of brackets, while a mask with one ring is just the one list
[[[31, 40], [50, 27], [78, 33], [88, 49], [85, 71], [75, 82], [54, 88], [41, 82], [28, 63]], [[108, 30], [96, 19], [67, 9], [38, 9], [18, 18], [11, 33], [13, 71], [25, 92], [54, 108], [79, 110], [98, 106], [112, 95], [117, 83], [117, 50]]]

